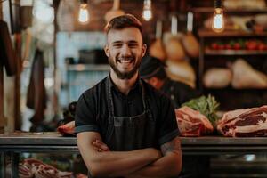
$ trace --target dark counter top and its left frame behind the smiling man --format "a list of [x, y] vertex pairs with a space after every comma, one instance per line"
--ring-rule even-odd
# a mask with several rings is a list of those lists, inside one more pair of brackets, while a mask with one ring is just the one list
[[[267, 152], [264, 137], [231, 138], [222, 136], [181, 137], [183, 155], [258, 154]], [[29, 153], [78, 153], [75, 137], [58, 133], [0, 134], [0, 177], [6, 177], [10, 159], [11, 177], [17, 177], [19, 155]]]

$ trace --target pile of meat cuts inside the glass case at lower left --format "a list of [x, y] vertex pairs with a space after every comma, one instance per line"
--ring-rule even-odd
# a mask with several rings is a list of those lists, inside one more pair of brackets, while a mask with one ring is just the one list
[[20, 178], [73, 178], [70, 172], [61, 172], [53, 166], [44, 164], [43, 162], [30, 158], [20, 163]]

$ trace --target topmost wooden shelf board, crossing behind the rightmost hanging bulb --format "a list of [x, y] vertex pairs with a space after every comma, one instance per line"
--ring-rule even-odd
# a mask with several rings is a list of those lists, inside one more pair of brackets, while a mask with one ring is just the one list
[[[193, 7], [190, 8], [188, 11], [190, 12], [204, 12], [204, 13], [210, 13], [214, 12], [214, 7]], [[261, 12], [267, 12], [267, 8], [263, 9], [247, 9], [247, 8], [242, 8], [242, 9], [224, 9], [224, 12], [231, 12], [231, 13], [239, 13], [239, 12], [250, 12], [250, 13], [261, 13]]]

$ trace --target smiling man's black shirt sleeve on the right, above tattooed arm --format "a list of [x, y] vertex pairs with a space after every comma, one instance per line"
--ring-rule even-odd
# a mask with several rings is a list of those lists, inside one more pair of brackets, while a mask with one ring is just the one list
[[176, 136], [178, 136], [179, 129], [176, 122], [174, 106], [171, 104], [171, 101], [166, 97], [163, 97], [161, 101], [161, 114], [160, 114], [160, 123], [159, 123], [159, 145], [162, 145], [166, 142], [172, 141]]

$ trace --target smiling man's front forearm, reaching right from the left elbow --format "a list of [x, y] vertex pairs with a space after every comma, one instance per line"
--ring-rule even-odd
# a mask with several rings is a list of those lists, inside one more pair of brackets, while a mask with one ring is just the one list
[[155, 149], [108, 151], [99, 152], [86, 165], [94, 176], [123, 176], [134, 173], [158, 158], [159, 154]]

